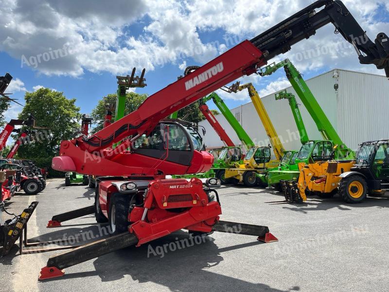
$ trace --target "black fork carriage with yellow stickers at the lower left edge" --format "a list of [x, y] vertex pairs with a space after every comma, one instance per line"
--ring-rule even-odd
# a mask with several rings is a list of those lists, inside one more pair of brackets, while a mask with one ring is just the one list
[[38, 201], [32, 202], [27, 209], [23, 210], [20, 216], [14, 219], [5, 221], [5, 224], [0, 226], [0, 245], [2, 245], [1, 256], [7, 255], [15, 242], [18, 240], [23, 228], [27, 225], [28, 220], [34, 213]]

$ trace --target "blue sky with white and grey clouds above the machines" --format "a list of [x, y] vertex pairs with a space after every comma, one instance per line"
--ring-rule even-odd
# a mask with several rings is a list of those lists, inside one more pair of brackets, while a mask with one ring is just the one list
[[[374, 40], [389, 34], [387, 0], [343, 1]], [[116, 75], [140, 74], [146, 68], [153, 94], [182, 75], [186, 66], [201, 66], [245, 39], [264, 32], [312, 3], [309, 0], [0, 0], [0, 75], [13, 81], [7, 92], [23, 103], [25, 91], [47, 87], [76, 98], [82, 113], [117, 89]], [[288, 57], [305, 79], [335, 68], [384, 74], [360, 65], [354, 48], [329, 24], [316, 36], [275, 57]], [[250, 75], [260, 95], [289, 86], [283, 70]], [[230, 108], [249, 102], [246, 91], [218, 93]], [[209, 104], [215, 109], [213, 104]], [[15, 118], [13, 104], [5, 118]]]

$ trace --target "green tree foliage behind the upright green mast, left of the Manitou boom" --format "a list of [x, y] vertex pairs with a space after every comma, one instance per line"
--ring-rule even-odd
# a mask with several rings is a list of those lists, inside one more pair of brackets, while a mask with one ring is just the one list
[[[147, 98], [147, 94], [140, 94], [135, 92], [127, 92], [125, 96], [125, 110], [124, 115], [137, 110], [141, 103]], [[91, 133], [96, 133], [103, 128], [105, 115], [106, 115], [106, 100], [115, 101], [117, 99], [117, 94], [108, 94], [104, 96], [103, 99], [99, 100], [97, 106], [92, 110], [91, 116], [93, 118], [93, 124], [95, 127], [92, 129]], [[113, 103], [112, 108], [112, 118], [115, 118], [115, 103]]]

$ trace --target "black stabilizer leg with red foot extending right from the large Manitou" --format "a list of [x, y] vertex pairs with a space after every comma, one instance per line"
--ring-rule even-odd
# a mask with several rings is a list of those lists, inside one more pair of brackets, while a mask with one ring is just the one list
[[278, 241], [278, 239], [269, 232], [269, 228], [267, 226], [261, 225], [219, 221], [213, 225], [212, 231], [257, 236], [257, 240], [261, 240], [266, 243]]

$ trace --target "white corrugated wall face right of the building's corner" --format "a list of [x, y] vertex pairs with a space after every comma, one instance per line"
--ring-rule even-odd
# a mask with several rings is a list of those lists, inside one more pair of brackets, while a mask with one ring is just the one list
[[389, 82], [385, 76], [339, 71], [338, 132], [352, 149], [364, 141], [388, 139]]

